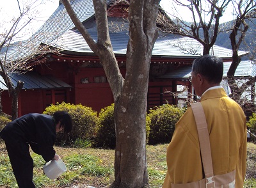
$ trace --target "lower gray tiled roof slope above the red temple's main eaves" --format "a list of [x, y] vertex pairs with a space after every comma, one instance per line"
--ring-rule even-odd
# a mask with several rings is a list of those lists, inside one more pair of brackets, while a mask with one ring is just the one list
[[[128, 23], [120, 18], [108, 18], [109, 36], [113, 45], [115, 54], [126, 54], [127, 43], [129, 40]], [[93, 40], [97, 42], [97, 27], [95, 20], [90, 20], [84, 24]], [[81, 55], [93, 53], [83, 36], [76, 29], [69, 30], [58, 39], [52, 42], [52, 45], [61, 47], [65, 51], [72, 53], [80, 52]], [[175, 36], [173, 34], [166, 35], [159, 31], [159, 37], [156, 40], [152, 56], [167, 57], [167, 58], [195, 58], [202, 55], [203, 46], [193, 38]], [[191, 54], [194, 53], [194, 54]], [[214, 45], [211, 49], [211, 54], [220, 56], [221, 58], [232, 57], [232, 50]], [[245, 54], [244, 51], [239, 51], [239, 55]]]

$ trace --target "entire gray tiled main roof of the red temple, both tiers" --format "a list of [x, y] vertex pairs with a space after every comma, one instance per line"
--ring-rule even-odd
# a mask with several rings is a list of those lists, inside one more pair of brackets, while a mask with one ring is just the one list
[[[94, 19], [94, 8], [91, 0], [75, 0], [71, 1], [74, 11], [77, 13], [77, 17], [83, 22], [84, 26], [88, 29], [89, 33], [92, 35], [93, 39], [97, 41], [97, 27]], [[83, 36], [74, 28], [74, 24], [70, 17], [68, 16], [63, 4], [60, 4], [56, 11], [51, 15], [51, 17], [45, 22], [45, 24], [36, 31], [36, 33], [23, 42], [23, 48], [17, 50], [13, 47], [10, 50], [10, 54], [14, 56], [15, 59], [22, 58], [31, 54], [30, 47], [26, 47], [25, 43], [29, 41], [34, 41], [33, 45], [38, 47], [40, 43], [51, 44], [55, 47], [61, 47], [65, 52], [70, 53], [92, 53], [90, 47], [85, 42]], [[128, 35], [128, 23], [124, 19], [109, 17], [109, 31], [111, 37], [111, 43], [115, 54], [125, 54], [127, 48], [127, 42], [129, 40]], [[163, 35], [159, 33], [159, 38], [157, 39], [152, 56], [159, 57], [174, 57], [174, 58], [193, 58], [202, 54], [202, 45], [196, 40], [188, 37], [180, 37], [175, 35]], [[180, 47], [183, 48], [180, 49]], [[194, 52], [191, 54], [189, 52]], [[245, 52], [240, 51], [239, 55]], [[218, 47], [214, 45], [211, 54], [220, 56], [222, 58], [232, 57], [232, 51], [225, 49], [223, 47]], [[11, 56], [11, 55], [10, 55]]]

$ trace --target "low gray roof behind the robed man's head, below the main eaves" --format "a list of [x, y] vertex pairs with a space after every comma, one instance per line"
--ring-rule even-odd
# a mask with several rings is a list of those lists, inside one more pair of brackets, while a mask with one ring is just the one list
[[[227, 77], [227, 72], [232, 62], [224, 62], [223, 77]], [[188, 79], [191, 75], [192, 65], [186, 65], [179, 69], [171, 70], [170, 72], [160, 76], [159, 78], [166, 79]], [[236, 69], [235, 77], [255, 77], [256, 76], [256, 65], [252, 61], [241, 61]]]

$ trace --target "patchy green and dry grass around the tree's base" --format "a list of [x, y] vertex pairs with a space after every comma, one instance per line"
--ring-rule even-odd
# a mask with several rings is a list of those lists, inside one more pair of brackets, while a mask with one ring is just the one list
[[[148, 178], [150, 187], [162, 187], [166, 175], [166, 147], [168, 145], [147, 146]], [[108, 187], [115, 180], [115, 150], [96, 148], [55, 147], [56, 153], [67, 166], [67, 172], [56, 180], [50, 180], [43, 173], [44, 159], [31, 151], [34, 160], [33, 181], [36, 187], [68, 187], [71, 185], [91, 185]], [[0, 187], [18, 187], [12, 173], [5, 146], [0, 142]], [[248, 143], [248, 160], [244, 188], [256, 187], [256, 145]]]

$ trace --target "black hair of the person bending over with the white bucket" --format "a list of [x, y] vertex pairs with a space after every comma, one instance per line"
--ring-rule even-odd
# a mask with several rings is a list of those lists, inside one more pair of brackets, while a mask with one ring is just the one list
[[64, 133], [68, 134], [72, 130], [72, 119], [65, 111], [56, 111], [53, 115], [56, 125], [60, 121], [60, 127], [63, 127]]

